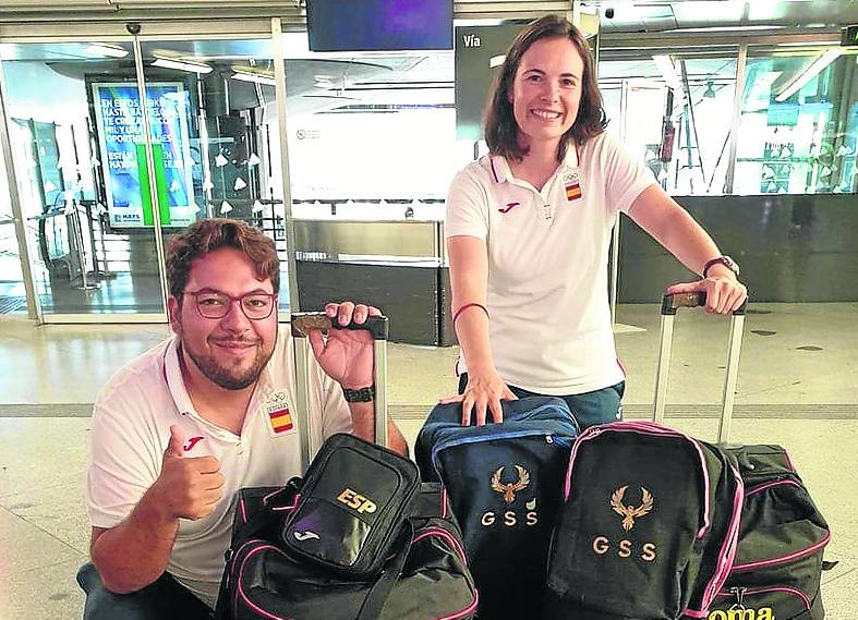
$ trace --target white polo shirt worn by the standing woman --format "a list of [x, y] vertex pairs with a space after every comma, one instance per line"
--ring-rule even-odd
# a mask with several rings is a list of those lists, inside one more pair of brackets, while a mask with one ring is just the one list
[[498, 374], [544, 394], [624, 379], [607, 295], [611, 229], [655, 182], [607, 133], [578, 150], [581, 165], [570, 147], [542, 191], [513, 178], [503, 157], [485, 156], [456, 175], [447, 198], [447, 238], [475, 236], [488, 247]]

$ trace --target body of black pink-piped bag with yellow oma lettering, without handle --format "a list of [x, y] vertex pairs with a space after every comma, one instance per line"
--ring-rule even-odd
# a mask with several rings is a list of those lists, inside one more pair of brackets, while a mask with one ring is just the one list
[[831, 538], [825, 519], [783, 448], [729, 451], [745, 479], [745, 504], [733, 569], [709, 620], [822, 620], [822, 555]]

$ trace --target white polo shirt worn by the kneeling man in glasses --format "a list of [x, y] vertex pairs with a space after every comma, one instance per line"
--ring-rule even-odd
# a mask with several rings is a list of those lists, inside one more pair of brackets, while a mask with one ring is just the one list
[[[113, 375], [95, 403], [85, 496], [92, 524], [120, 524], [160, 473], [170, 425], [184, 434], [188, 457], [213, 455], [226, 477], [223, 497], [200, 521], [180, 520], [167, 570], [214, 606], [229, 547], [235, 493], [242, 487], [282, 485], [301, 475], [295, 377], [289, 330], [277, 344], [251, 399], [241, 437], [201, 417], [182, 381], [173, 337]], [[310, 355], [310, 426], [319, 446], [334, 433], [351, 431], [342, 390]]]

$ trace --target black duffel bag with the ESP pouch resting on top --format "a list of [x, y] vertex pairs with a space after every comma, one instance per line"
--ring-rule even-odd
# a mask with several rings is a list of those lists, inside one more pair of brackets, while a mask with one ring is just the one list
[[303, 481], [239, 493], [215, 618], [454, 620], [476, 603], [440, 485], [335, 435]]

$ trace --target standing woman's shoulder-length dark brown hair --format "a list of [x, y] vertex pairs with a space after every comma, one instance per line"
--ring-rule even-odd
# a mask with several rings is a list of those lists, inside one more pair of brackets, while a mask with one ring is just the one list
[[584, 63], [578, 117], [560, 139], [557, 147], [557, 161], [561, 161], [566, 157], [569, 143], [573, 142], [580, 146], [605, 131], [607, 119], [602, 107], [602, 94], [599, 92], [596, 83], [595, 62], [587, 39], [581, 31], [565, 17], [546, 15], [532, 22], [518, 34], [507, 51], [506, 60], [492, 86], [492, 94], [485, 110], [485, 142], [493, 155], [521, 160], [528, 154], [528, 147], [522, 147], [519, 144], [519, 127], [512, 112], [512, 104], [509, 101], [509, 93], [524, 52], [537, 40], [555, 37], [565, 37], [572, 41]]

